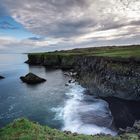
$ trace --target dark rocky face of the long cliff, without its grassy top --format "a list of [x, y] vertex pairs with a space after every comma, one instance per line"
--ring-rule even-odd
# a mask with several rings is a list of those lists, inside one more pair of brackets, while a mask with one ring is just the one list
[[29, 64], [74, 69], [90, 94], [140, 99], [140, 59], [84, 55], [29, 54]]

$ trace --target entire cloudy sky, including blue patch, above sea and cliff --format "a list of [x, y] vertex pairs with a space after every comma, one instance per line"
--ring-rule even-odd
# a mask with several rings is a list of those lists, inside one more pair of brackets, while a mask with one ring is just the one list
[[0, 0], [0, 52], [140, 44], [140, 0]]

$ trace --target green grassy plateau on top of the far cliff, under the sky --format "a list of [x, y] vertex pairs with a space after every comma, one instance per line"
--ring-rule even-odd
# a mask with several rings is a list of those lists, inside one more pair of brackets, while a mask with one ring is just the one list
[[29, 55], [86, 55], [106, 57], [140, 57], [140, 45], [80, 48], [66, 51], [32, 53]]

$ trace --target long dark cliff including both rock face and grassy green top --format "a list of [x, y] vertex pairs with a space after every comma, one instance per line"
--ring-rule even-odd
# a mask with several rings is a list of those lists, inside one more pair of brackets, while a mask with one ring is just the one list
[[28, 58], [31, 65], [74, 69], [79, 83], [95, 96], [140, 99], [140, 46], [36, 53]]

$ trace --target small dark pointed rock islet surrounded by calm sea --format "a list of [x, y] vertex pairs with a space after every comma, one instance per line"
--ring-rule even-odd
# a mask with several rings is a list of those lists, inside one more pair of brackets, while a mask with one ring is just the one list
[[46, 79], [38, 77], [33, 73], [28, 73], [25, 76], [21, 76], [20, 79], [27, 84], [37, 84], [37, 83], [42, 83], [46, 81]]

